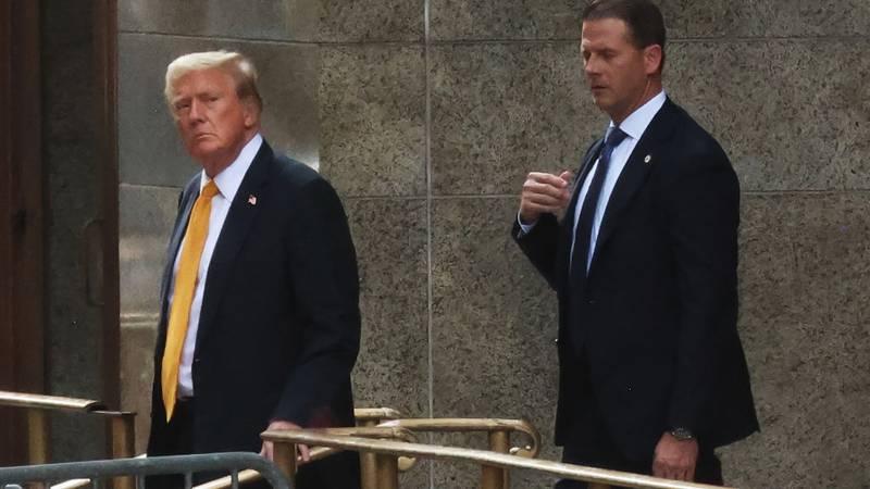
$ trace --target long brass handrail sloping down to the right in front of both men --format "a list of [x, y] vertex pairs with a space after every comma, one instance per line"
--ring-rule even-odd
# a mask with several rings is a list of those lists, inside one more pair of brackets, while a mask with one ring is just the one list
[[[495, 453], [487, 450], [438, 447], [391, 440], [373, 440], [359, 437], [341, 437], [306, 429], [265, 431], [261, 436], [263, 439], [276, 443], [275, 449], [279, 456], [276, 456], [275, 462], [288, 477], [293, 477], [296, 473], [296, 461], [295, 457], [294, 460], [289, 460], [286, 454], [294, 453], [296, 444], [299, 443], [375, 453], [382, 462], [378, 468], [385, 474], [385, 477], [378, 480], [378, 489], [398, 488], [398, 475], [395, 463], [393, 463], [398, 456], [422, 456], [436, 460], [472, 462], [482, 466], [508, 469], [522, 468], [566, 479], [598, 484], [599, 487], [600, 485], [605, 487], [613, 485], [637, 489], [722, 489], [704, 484], [683, 482], [625, 472], [526, 459]], [[490, 481], [484, 479], [482, 487], [483, 489], [500, 489], [502, 486], [494, 486]]]

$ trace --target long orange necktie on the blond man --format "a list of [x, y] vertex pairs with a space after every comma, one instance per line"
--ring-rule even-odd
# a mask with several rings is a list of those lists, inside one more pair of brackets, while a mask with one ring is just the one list
[[199, 274], [199, 260], [209, 236], [209, 218], [211, 217], [211, 199], [219, 192], [214, 180], [202, 188], [190, 222], [187, 225], [182, 259], [178, 261], [178, 273], [175, 274], [175, 287], [172, 291], [172, 310], [166, 330], [166, 346], [163, 350], [163, 363], [160, 381], [163, 386], [163, 405], [166, 408], [166, 423], [175, 411], [175, 393], [178, 389], [178, 364], [182, 362], [182, 348], [187, 336], [187, 323], [190, 321], [190, 304]]

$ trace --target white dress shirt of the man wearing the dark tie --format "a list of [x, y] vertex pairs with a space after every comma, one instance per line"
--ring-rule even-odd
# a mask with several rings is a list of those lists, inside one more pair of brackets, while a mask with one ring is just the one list
[[[595, 244], [598, 240], [598, 230], [601, 228], [601, 221], [604, 220], [605, 211], [607, 210], [607, 203], [610, 201], [610, 195], [613, 192], [613, 188], [617, 186], [619, 176], [622, 174], [625, 163], [629, 162], [629, 156], [631, 156], [632, 151], [634, 151], [634, 147], [637, 146], [637, 141], [641, 140], [641, 137], [646, 131], [649, 123], [652, 122], [652, 117], [655, 117], [661, 106], [664, 105], [667, 96], [664, 95], [664, 91], [660, 91], [657, 96], [652, 97], [645, 104], [632, 112], [627, 117], [625, 117], [624, 121], [622, 121], [622, 124], [619, 125], [620, 129], [622, 129], [622, 131], [627, 136], [613, 149], [613, 153], [610, 155], [610, 166], [607, 168], [607, 175], [605, 176], [605, 181], [601, 186], [601, 195], [598, 197], [598, 206], [595, 210], [595, 216], [593, 217], [592, 222], [589, 254], [586, 256], [587, 272], [589, 269], [589, 265], [592, 265], [592, 258], [595, 254]], [[609, 127], [612, 126], [613, 121], [610, 121]], [[583, 200], [586, 198], [586, 192], [588, 191], [589, 185], [592, 185], [592, 179], [595, 177], [595, 172], [597, 171], [598, 160], [595, 160], [593, 167], [589, 170], [586, 178], [583, 180], [583, 186], [580, 189], [580, 196], [577, 196], [576, 208], [574, 209], [574, 226], [572, 228], [571, 236], [576, 236], [580, 212], [583, 209]], [[576, 177], [580, 178], [580, 175]], [[534, 223], [531, 225], [525, 225], [520, 222], [520, 226], [523, 234], [527, 234], [532, 230], [532, 227], [534, 227]], [[573, 254], [574, 240], [572, 238], [571, 256], [573, 256]]]

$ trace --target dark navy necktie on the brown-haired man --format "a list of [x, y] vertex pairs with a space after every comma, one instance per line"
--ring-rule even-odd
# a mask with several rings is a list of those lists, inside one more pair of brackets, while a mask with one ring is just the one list
[[571, 255], [571, 277], [574, 279], [586, 276], [586, 262], [591, 251], [592, 223], [595, 220], [595, 211], [598, 209], [601, 187], [604, 187], [607, 171], [610, 167], [610, 155], [613, 153], [613, 148], [618, 147], [626, 136], [619, 127], [607, 129], [605, 146], [598, 159], [598, 167], [595, 170], [588, 190], [586, 190], [586, 197], [583, 199], [583, 206], [580, 210], [580, 218], [577, 220], [576, 234], [574, 235], [574, 252]]

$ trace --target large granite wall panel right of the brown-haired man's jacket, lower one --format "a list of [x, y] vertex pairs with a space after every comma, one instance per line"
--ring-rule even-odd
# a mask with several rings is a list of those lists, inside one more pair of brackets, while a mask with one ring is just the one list
[[870, 484], [868, 197], [745, 199], [739, 327], [761, 432], [722, 451], [733, 486]]

